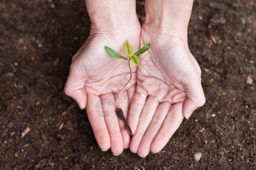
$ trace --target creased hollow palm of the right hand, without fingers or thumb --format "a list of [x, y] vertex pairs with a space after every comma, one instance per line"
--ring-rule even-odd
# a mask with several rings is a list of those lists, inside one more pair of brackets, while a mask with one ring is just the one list
[[[148, 95], [154, 96], [159, 102], [182, 102], [185, 100], [186, 94], [181, 82], [183, 81], [182, 76], [177, 72], [180, 66], [172, 63], [173, 59], [168, 51], [155, 53], [155, 45], [151, 44], [148, 56], [141, 61], [141, 69], [137, 73], [137, 86], [144, 88]], [[167, 66], [167, 63], [170, 64]]]

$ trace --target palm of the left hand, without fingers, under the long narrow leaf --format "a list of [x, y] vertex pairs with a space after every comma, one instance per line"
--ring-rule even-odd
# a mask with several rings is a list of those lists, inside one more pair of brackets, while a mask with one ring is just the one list
[[[138, 47], [138, 40], [132, 42], [134, 46]], [[84, 83], [86, 92], [98, 96], [117, 92], [120, 88], [118, 82], [125, 84], [130, 76], [128, 62], [110, 56], [105, 51], [105, 45], [111, 46], [122, 56], [127, 57], [124, 49], [125, 38], [118, 42], [106, 40], [104, 37], [89, 37], [81, 52], [79, 51], [73, 59], [73, 62], [81, 65], [84, 74], [81, 75], [86, 79]], [[132, 71], [135, 73], [136, 70], [133, 69]], [[129, 86], [134, 83], [133, 79]]]

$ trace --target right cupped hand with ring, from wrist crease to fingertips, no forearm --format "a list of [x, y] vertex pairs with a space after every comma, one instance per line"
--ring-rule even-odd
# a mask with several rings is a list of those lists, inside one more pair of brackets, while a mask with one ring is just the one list
[[201, 70], [187, 42], [146, 30], [142, 28], [141, 46], [150, 43], [151, 48], [139, 58], [128, 116], [134, 133], [130, 150], [141, 157], [162, 150], [183, 117], [205, 103]]

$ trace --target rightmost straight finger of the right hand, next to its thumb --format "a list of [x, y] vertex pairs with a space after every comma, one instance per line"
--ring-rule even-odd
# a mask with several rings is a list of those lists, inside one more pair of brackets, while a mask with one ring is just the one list
[[183, 120], [182, 107], [183, 103], [176, 103], [171, 106], [162, 127], [159, 129], [151, 143], [151, 152], [157, 153], [162, 150], [162, 148], [166, 146], [167, 142], [175, 133], [177, 128], [179, 128]]

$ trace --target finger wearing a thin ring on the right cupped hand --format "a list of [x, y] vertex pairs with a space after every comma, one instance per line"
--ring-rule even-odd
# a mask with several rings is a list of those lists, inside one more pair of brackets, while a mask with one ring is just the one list
[[145, 96], [147, 96], [146, 90], [141, 87], [137, 87], [137, 92], [135, 92], [133, 99], [131, 100], [127, 122], [130, 125], [133, 134], [137, 129], [139, 116], [141, 115], [142, 108], [146, 102]]

